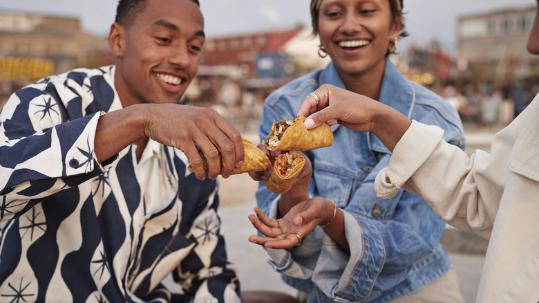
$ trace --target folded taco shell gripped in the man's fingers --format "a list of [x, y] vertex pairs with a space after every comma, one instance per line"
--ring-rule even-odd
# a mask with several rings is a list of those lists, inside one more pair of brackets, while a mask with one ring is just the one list
[[[243, 150], [245, 151], [245, 156], [243, 158], [243, 165], [241, 167], [236, 167], [232, 171], [232, 174], [243, 174], [244, 172], [259, 172], [266, 170], [268, 167], [272, 166], [272, 163], [269, 161], [267, 154], [261, 151], [258, 147], [254, 146], [249, 140], [241, 138], [243, 141]], [[208, 172], [208, 161], [202, 153], [202, 150], [198, 151], [200, 157], [202, 157], [202, 165], [204, 165], [205, 172]], [[223, 167], [223, 160], [219, 154], [219, 161], [221, 167]], [[187, 167], [189, 172], [193, 172], [193, 167], [189, 164]]]

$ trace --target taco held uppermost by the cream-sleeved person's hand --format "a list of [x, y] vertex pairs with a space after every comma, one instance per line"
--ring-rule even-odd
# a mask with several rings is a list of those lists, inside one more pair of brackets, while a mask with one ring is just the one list
[[[283, 121], [283, 120], [281, 120]], [[326, 123], [314, 129], [307, 129], [303, 122], [305, 117], [297, 117], [294, 120], [287, 120], [290, 125], [283, 132], [283, 136], [278, 140], [276, 134], [279, 129], [276, 123], [272, 124], [272, 131], [263, 142], [268, 150], [297, 150], [308, 151], [333, 144], [333, 133]]]

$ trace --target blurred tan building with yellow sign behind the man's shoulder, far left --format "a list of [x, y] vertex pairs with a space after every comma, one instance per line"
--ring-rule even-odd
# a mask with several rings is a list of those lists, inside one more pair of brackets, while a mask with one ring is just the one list
[[113, 62], [107, 40], [84, 32], [78, 18], [0, 11], [0, 103], [47, 75]]

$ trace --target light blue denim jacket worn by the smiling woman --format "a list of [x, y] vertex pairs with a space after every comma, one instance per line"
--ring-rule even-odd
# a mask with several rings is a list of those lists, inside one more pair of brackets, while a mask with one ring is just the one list
[[[299, 77], [267, 97], [258, 128], [266, 140], [272, 122], [292, 119], [301, 101], [321, 84], [344, 88], [331, 62], [325, 69]], [[444, 129], [444, 140], [464, 149], [457, 111], [419, 84], [406, 80], [386, 59], [379, 101], [408, 118]], [[312, 161], [310, 195], [332, 199], [344, 211], [350, 253], [321, 228], [291, 250], [268, 249], [269, 263], [285, 282], [309, 293], [308, 302], [387, 302], [441, 277], [451, 267], [439, 244], [445, 223], [419, 196], [400, 190], [382, 200], [375, 176], [391, 156], [373, 134], [332, 126], [330, 147], [306, 152]], [[258, 206], [276, 217], [279, 196], [261, 183]]]

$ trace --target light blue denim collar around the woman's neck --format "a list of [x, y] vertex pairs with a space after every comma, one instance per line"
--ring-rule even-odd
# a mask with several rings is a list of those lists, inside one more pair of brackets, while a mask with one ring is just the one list
[[[319, 83], [328, 83], [341, 89], [346, 89], [333, 62], [330, 62], [325, 67], [323, 73], [320, 75]], [[415, 104], [415, 90], [413, 86], [408, 83], [408, 80], [406, 80], [404, 75], [401, 74], [397, 66], [389, 58], [386, 58], [379, 102], [397, 109], [397, 111], [403, 113], [408, 118], [410, 118], [413, 105]], [[339, 127], [339, 125], [333, 125], [331, 129], [332, 131], [336, 131]], [[386, 146], [373, 134], [370, 134], [369, 144], [372, 150], [384, 153], [389, 152]]]

